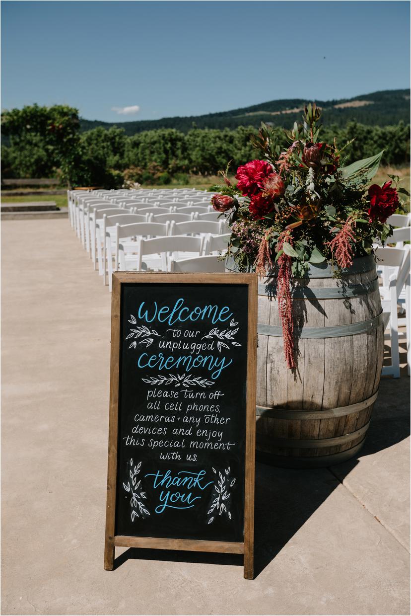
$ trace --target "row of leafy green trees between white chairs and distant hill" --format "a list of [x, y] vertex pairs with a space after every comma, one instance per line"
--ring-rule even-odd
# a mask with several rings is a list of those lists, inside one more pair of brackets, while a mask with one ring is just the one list
[[[307, 111], [314, 113], [313, 108]], [[301, 113], [298, 115], [297, 119], [301, 120]], [[323, 110], [322, 117], [324, 115]], [[221, 120], [224, 118], [228, 115], [221, 115]], [[243, 116], [248, 123], [253, 118]], [[286, 118], [289, 123], [290, 115]], [[231, 173], [235, 173], [240, 164], [253, 158], [265, 158], [267, 153], [274, 161], [287, 145], [284, 129], [268, 124], [263, 124], [260, 132], [252, 125], [223, 130], [190, 128], [187, 132], [165, 128], [138, 132], [131, 137], [127, 136], [125, 125], [108, 129], [98, 126], [79, 133], [77, 110], [71, 107], [32, 105], [22, 110], [5, 111], [2, 114], [3, 176], [60, 174], [74, 186], [116, 188], [122, 185], [121, 172], [123, 181], [161, 185], [174, 179], [186, 184], [189, 174], [215, 175], [226, 167], [227, 161], [231, 161]], [[300, 128], [296, 126], [300, 136]], [[322, 140], [333, 144], [334, 137], [340, 153], [340, 167], [369, 158], [380, 150], [384, 150], [383, 165], [403, 166], [409, 161], [409, 126], [404, 123], [381, 128], [350, 122], [343, 128], [337, 125], [322, 128]], [[290, 138], [293, 138], [291, 132], [288, 140]], [[253, 144], [260, 149], [256, 151]], [[127, 170], [130, 177], [127, 177]]]

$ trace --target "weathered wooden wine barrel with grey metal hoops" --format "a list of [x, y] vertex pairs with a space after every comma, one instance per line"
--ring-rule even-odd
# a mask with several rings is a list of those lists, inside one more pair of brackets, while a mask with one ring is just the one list
[[[275, 286], [274, 279], [274, 286]], [[285, 365], [273, 285], [258, 285], [257, 451], [278, 466], [330, 466], [364, 444], [383, 363], [383, 319], [372, 256], [333, 278], [311, 265], [294, 281], [298, 367]]]

